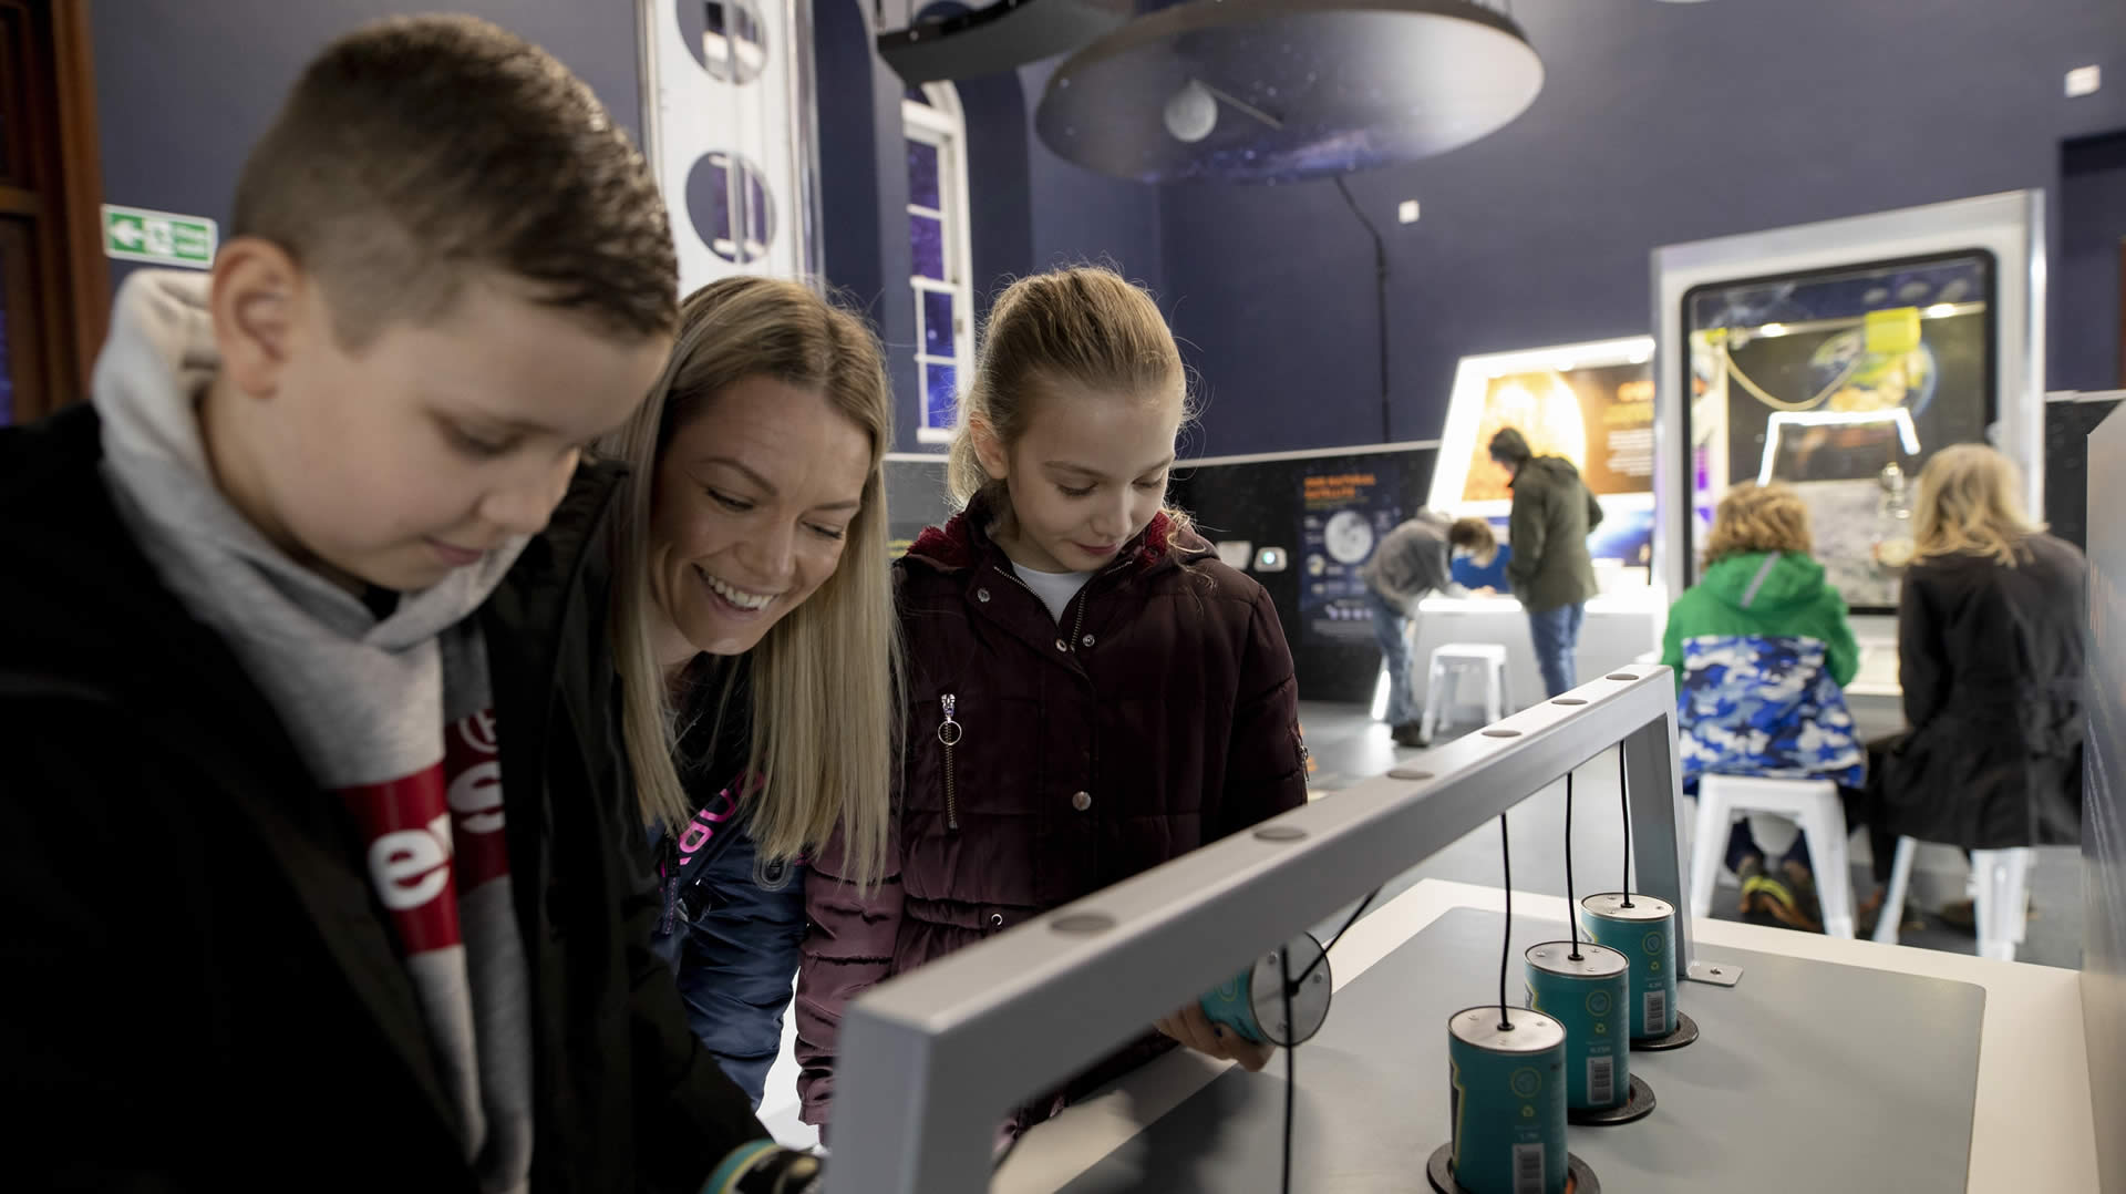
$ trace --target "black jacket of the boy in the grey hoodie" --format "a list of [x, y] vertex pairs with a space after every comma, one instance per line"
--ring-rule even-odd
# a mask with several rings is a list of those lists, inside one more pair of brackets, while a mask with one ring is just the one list
[[[9, 1183], [474, 1190], [361, 841], [134, 545], [98, 434], [89, 407], [0, 430]], [[540, 1192], [691, 1192], [765, 1137], [648, 951], [606, 649], [617, 481], [578, 468], [480, 611]]]

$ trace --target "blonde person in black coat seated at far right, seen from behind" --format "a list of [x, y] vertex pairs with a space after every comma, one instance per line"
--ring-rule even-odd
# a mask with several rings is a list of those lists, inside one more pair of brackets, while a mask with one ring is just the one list
[[[1875, 849], [2081, 841], [2081, 551], [2030, 521], [2015, 464], [1977, 443], [1926, 462], [1913, 538], [1896, 615], [1909, 728], [1869, 747]], [[1879, 907], [1877, 890], [1862, 919]], [[1943, 917], [1969, 922], [1969, 905]]]

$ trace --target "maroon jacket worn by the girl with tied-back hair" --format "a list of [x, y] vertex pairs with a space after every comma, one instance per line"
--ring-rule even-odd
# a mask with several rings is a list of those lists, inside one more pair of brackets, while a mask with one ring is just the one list
[[[1307, 798], [1293, 656], [1263, 585], [1159, 515], [1059, 628], [982, 526], [974, 507], [895, 564], [910, 700], [897, 873], [870, 900], [833, 849], [808, 875], [797, 1062], [812, 1124], [850, 998]], [[1110, 1058], [1020, 1122], [1146, 1056]]]

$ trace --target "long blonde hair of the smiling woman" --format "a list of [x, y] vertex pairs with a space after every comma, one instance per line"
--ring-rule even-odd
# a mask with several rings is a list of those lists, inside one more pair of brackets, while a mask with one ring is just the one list
[[[670, 832], [693, 817], [674, 764], [680, 711], [648, 632], [657, 458], [682, 426], [748, 377], [823, 394], [872, 441], [863, 507], [848, 526], [840, 564], [750, 651], [746, 756], [746, 773], [759, 783], [748, 832], [761, 856], [795, 860], [840, 830], [850, 877], [867, 885], [884, 866], [901, 709], [882, 470], [893, 441], [893, 389], [878, 336], [863, 319], [799, 283], [742, 277], [693, 292], [680, 304], [678, 343], [655, 389], [604, 445], [606, 455], [631, 466], [617, 498], [612, 651], [636, 800], [644, 822]], [[689, 713], [721, 717], [723, 709]]]

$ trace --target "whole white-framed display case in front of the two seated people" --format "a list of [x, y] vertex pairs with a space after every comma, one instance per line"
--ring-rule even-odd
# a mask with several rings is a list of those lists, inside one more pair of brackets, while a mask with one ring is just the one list
[[2043, 206], [2009, 192], [1654, 251], [1663, 609], [1697, 581], [1728, 485], [1792, 483], [1854, 611], [1847, 696], [1899, 694], [1896, 594], [1926, 460], [1992, 443], [2043, 509]]

